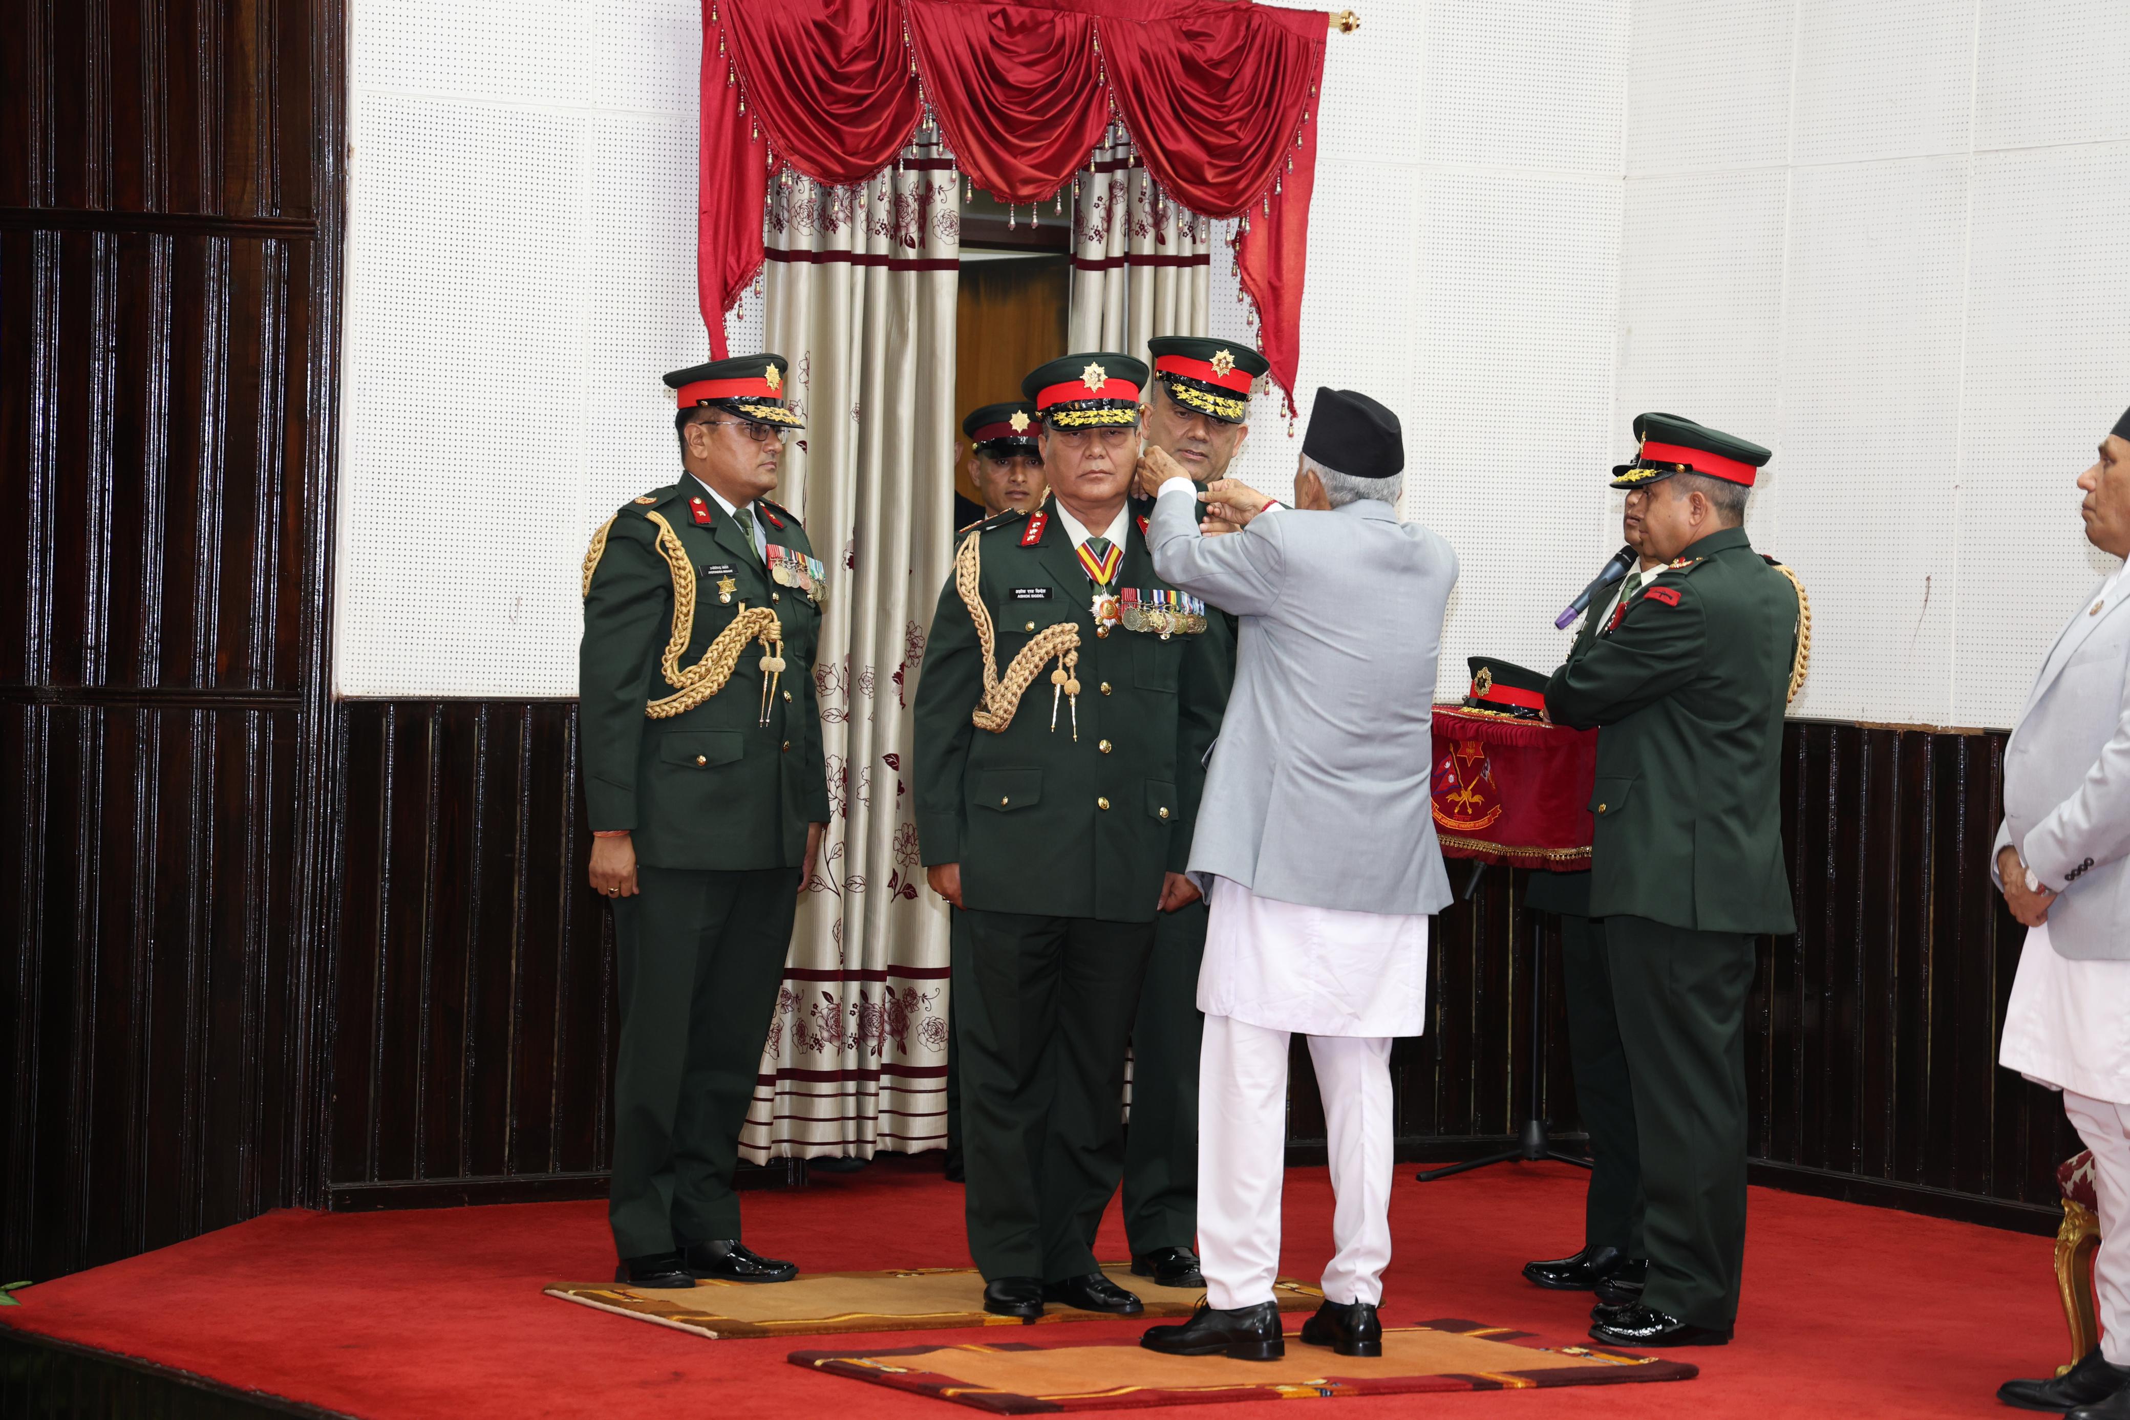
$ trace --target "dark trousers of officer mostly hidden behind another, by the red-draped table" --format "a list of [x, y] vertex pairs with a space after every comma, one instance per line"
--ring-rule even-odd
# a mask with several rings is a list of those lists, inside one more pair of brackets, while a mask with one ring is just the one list
[[1642, 1252], [1642, 1147], [1634, 1126], [1627, 1047], [1612, 1007], [1612, 964], [1604, 922], [1561, 913], [1561, 994], [1568, 996], [1568, 1058], [1576, 1111], [1591, 1137], [1591, 1186], [1583, 1201], [1583, 1245]]

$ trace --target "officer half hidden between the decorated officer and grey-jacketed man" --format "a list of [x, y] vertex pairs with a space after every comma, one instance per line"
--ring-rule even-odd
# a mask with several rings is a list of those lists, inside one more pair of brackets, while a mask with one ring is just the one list
[[[1163, 449], [1203, 505], [1250, 434], [1250, 387], [1272, 364], [1240, 341], [1154, 336], [1140, 407], [1146, 447]], [[1199, 509], [1203, 515], [1203, 507]], [[1235, 637], [1235, 617], [1216, 613]], [[1154, 952], [1131, 1022], [1131, 1128], [1125, 1135], [1125, 1239], [1131, 1271], [1159, 1286], [1206, 1286], [1197, 1260], [1197, 1060], [1206, 1016], [1197, 971], [1206, 901], [1154, 920]]]

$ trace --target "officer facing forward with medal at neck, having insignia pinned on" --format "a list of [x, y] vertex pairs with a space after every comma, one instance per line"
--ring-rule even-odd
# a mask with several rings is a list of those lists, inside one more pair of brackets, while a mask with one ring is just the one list
[[1154, 577], [1127, 494], [1146, 366], [1022, 381], [1052, 496], [963, 536], [916, 703], [927, 875], [961, 909], [954, 1013], [984, 1307], [1133, 1314], [1095, 1265], [1123, 1169], [1125, 1045], [1233, 675], [1220, 617]]

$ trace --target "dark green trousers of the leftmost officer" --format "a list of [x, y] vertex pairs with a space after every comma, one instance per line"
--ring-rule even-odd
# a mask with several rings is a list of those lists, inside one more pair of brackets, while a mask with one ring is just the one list
[[739, 1237], [733, 1167], [784, 981], [799, 869], [637, 866], [613, 898], [622, 1045], [607, 1222], [624, 1258]]

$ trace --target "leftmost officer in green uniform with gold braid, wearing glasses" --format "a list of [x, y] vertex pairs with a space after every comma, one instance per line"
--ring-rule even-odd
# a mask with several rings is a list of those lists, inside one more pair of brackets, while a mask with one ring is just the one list
[[782, 356], [667, 375], [682, 468], [592, 536], [577, 658], [592, 888], [613, 903], [622, 1041], [616, 1282], [788, 1282], [739, 1241], [733, 1167], [829, 822], [814, 711], [822, 564], [769, 502]]

